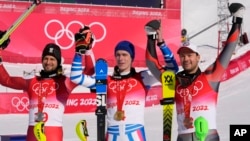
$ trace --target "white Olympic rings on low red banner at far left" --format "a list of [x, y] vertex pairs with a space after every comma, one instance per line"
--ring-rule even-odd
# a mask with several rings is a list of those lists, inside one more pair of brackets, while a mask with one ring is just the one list
[[29, 99], [28, 97], [13, 97], [11, 99], [11, 105], [17, 109], [17, 111], [22, 112], [24, 110], [29, 110]]

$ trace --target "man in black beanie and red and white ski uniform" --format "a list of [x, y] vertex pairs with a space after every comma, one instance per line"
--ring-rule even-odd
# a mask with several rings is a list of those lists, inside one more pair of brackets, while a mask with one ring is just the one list
[[[3, 33], [2, 33], [3, 35]], [[76, 34], [76, 52], [83, 44], [81, 34]], [[6, 48], [9, 39], [1, 45], [2, 49]], [[91, 45], [91, 44], [90, 44]], [[2, 51], [4, 53], [4, 51]], [[84, 51], [86, 66], [84, 72], [86, 75], [94, 74], [94, 59], [91, 49]], [[1, 57], [1, 56], [0, 56]], [[2, 58], [2, 57], [1, 57]], [[43, 70], [39, 75], [30, 79], [24, 79], [19, 76], [10, 76], [5, 70], [2, 59], [0, 62], [0, 84], [17, 90], [27, 92], [29, 97], [29, 123], [27, 130], [27, 141], [36, 141], [34, 126], [37, 122], [44, 122], [44, 133], [47, 141], [63, 140], [63, 113], [69, 94], [77, 86], [72, 83], [69, 77], [63, 74], [61, 65], [61, 49], [54, 43], [45, 46], [42, 52]], [[90, 85], [83, 83], [83, 86]]]

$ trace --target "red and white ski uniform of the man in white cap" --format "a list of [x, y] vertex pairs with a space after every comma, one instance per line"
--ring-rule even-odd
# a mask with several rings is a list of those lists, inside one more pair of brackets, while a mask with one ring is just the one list
[[[185, 70], [177, 73], [175, 88], [175, 105], [178, 124], [177, 141], [199, 141], [200, 139], [195, 133], [195, 121], [200, 118], [202, 118], [204, 123], [207, 123], [208, 134], [205, 140], [219, 141], [216, 126], [219, 85], [221, 77], [237, 46], [241, 22], [242, 18], [236, 18], [236, 21], [233, 22], [225, 47], [215, 62], [204, 72], [198, 69], [195, 74], [188, 74]], [[148, 46], [148, 48], [152, 47]], [[163, 52], [163, 55], [165, 56], [166, 54]], [[156, 56], [156, 54], [153, 53], [152, 56]], [[148, 65], [151, 71], [158, 69], [156, 66], [157, 65]], [[154, 75], [156, 77], [160, 76], [160, 71]], [[186, 124], [185, 119], [192, 119], [193, 123], [191, 125]]]

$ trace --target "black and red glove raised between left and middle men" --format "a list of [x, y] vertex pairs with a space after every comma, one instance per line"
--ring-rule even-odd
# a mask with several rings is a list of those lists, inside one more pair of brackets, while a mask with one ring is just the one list
[[88, 26], [81, 28], [78, 33], [75, 34], [76, 53], [84, 54], [86, 50], [92, 48], [94, 41], [93, 34]]

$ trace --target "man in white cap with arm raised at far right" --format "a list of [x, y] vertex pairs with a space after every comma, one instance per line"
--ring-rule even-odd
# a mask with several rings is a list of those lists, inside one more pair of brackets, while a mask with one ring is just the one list
[[[218, 58], [204, 72], [198, 63], [197, 46], [184, 42], [178, 49], [183, 71], [178, 72], [175, 89], [175, 104], [178, 124], [177, 141], [219, 141], [216, 127], [216, 106], [220, 80], [238, 44], [244, 6], [233, 3], [229, 6], [233, 24], [226, 44]], [[148, 46], [148, 48], [152, 48]], [[150, 50], [150, 49], [148, 49]], [[153, 56], [156, 56], [154, 53]], [[164, 54], [165, 56], [165, 54]], [[148, 65], [155, 71], [157, 65]], [[153, 73], [158, 79], [158, 74]]]

